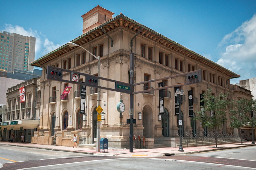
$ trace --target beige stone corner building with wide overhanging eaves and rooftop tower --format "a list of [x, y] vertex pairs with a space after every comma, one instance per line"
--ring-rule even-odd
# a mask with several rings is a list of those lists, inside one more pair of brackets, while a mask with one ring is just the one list
[[[97, 6], [82, 15], [83, 34], [71, 42], [82, 46], [95, 56], [100, 56], [100, 77], [129, 83], [130, 53], [133, 52], [135, 83], [159, 79], [170, 75], [201, 70], [202, 82], [180, 86], [184, 91], [181, 106], [182, 132], [202, 133], [205, 129], [197, 121], [188, 116], [188, 91], [193, 95], [193, 116], [200, 110], [200, 94], [212, 88], [213, 95], [229, 92], [229, 99], [242, 96], [251, 97], [251, 92], [238, 86], [230, 85], [231, 78], [238, 74], [214, 63], [192, 50], [174, 42], [167, 37], [141, 25], [124, 16], [122, 13], [112, 18], [114, 13]], [[110, 17], [111, 16], [111, 17]], [[42, 94], [40, 107], [40, 123], [32, 137], [32, 143], [52, 145], [56, 137], [56, 145], [71, 146], [70, 138], [77, 134], [83, 144], [94, 145], [97, 140], [97, 89], [87, 86], [85, 99], [86, 121], [80, 114], [81, 87], [68, 83], [70, 74], [63, 72], [63, 81], [53, 81], [46, 78], [47, 66], [68, 69], [74, 72], [98, 75], [98, 61], [81, 47], [71, 47], [67, 44], [46, 54], [31, 63], [31, 66], [43, 68], [43, 75], [38, 79], [37, 90]], [[80, 80], [85, 82], [85, 77]], [[161, 81], [148, 82], [134, 86], [134, 91], [158, 88], [158, 83], [164, 86], [183, 84], [187, 76], [179, 76]], [[110, 81], [100, 81], [100, 86], [114, 88]], [[61, 98], [66, 87], [71, 87], [70, 93]], [[134, 95], [134, 136], [145, 138], [145, 147], [152, 148], [156, 144], [176, 146], [178, 116], [175, 116], [175, 90], [164, 91], [164, 114], [159, 117], [158, 91], [150, 91]], [[126, 109], [120, 115], [116, 109], [117, 103], [123, 100]], [[100, 122], [100, 138], [108, 138], [109, 147], [129, 147], [129, 94], [100, 89], [100, 106], [105, 120]], [[139, 115], [141, 113], [141, 115]], [[141, 116], [141, 120], [139, 119]], [[228, 121], [219, 131], [234, 133]], [[198, 134], [199, 135], [199, 134]], [[79, 143], [78, 143], [79, 144]], [[81, 144], [81, 142], [80, 142]], [[138, 147], [139, 144], [136, 144]]]

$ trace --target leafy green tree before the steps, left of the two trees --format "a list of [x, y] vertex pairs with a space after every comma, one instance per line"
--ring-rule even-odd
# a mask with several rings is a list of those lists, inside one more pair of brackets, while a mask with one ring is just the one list
[[[228, 94], [222, 94], [219, 96], [212, 95], [212, 89], [208, 89], [207, 93], [204, 93], [204, 99], [200, 102], [204, 102], [204, 106], [200, 111], [197, 111], [195, 120], [202, 122], [203, 127], [207, 126], [214, 131], [215, 145], [217, 147], [217, 128], [222, 127], [223, 121], [226, 122], [226, 107], [229, 105], [229, 101], [226, 99]], [[208, 114], [205, 113], [208, 112]]]

